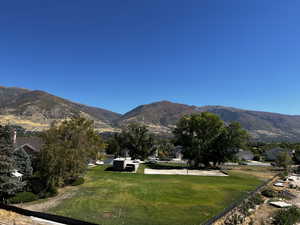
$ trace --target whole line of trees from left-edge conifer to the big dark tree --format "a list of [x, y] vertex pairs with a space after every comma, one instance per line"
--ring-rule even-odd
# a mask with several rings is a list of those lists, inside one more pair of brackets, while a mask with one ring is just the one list
[[[12, 127], [0, 126], [2, 201], [20, 190], [48, 196], [47, 193], [56, 187], [72, 184], [82, 177], [88, 162], [98, 159], [104, 150], [116, 157], [128, 154], [133, 159], [144, 160], [154, 155], [172, 157], [175, 146], [180, 146], [183, 158], [191, 166], [217, 167], [234, 160], [235, 154], [248, 141], [248, 134], [239, 123], [226, 124], [208, 112], [183, 116], [169, 139], [159, 138], [146, 126], [132, 123], [106, 142], [96, 132], [93, 121], [71, 118], [53, 123], [39, 134], [43, 146], [36, 159], [37, 166], [33, 168], [28, 157], [20, 156], [22, 160], [14, 160], [12, 133]], [[11, 176], [16, 168], [23, 168], [22, 172], [27, 174], [25, 180], [19, 181]]]

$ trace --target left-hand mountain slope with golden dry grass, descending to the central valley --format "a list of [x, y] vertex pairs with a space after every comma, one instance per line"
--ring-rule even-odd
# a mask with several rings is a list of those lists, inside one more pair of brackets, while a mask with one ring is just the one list
[[119, 114], [51, 95], [44, 91], [20, 88], [0, 88], [0, 120], [27, 129], [44, 129], [54, 120], [71, 116], [85, 116], [95, 121], [96, 128], [113, 130], [112, 122]]

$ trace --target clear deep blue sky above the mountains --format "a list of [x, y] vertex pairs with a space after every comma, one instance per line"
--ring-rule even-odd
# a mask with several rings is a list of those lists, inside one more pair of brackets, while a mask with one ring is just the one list
[[0, 85], [126, 112], [159, 100], [300, 114], [299, 0], [10, 0]]

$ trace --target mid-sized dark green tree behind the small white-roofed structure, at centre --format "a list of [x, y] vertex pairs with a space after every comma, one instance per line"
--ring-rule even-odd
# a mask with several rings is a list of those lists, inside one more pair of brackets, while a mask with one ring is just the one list
[[115, 153], [122, 155], [127, 150], [133, 159], [146, 159], [155, 152], [154, 138], [146, 126], [129, 124], [120, 134], [114, 136], [110, 146]]

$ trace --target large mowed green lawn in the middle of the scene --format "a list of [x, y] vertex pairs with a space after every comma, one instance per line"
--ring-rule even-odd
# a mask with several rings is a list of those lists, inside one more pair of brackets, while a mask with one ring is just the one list
[[103, 225], [194, 225], [217, 215], [262, 182], [238, 172], [202, 177], [105, 168], [90, 169], [77, 194], [50, 212]]

